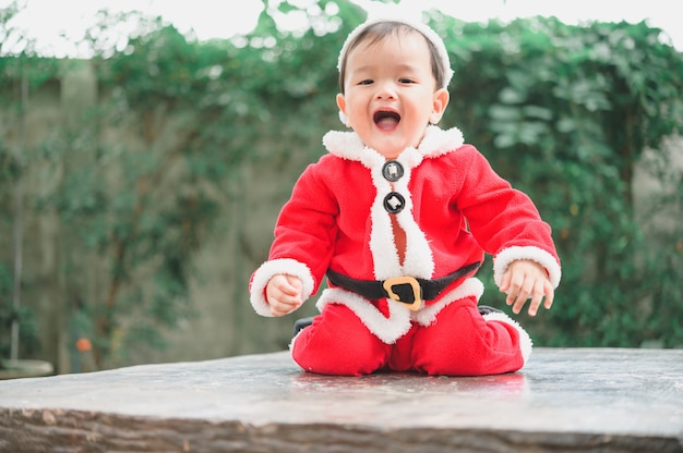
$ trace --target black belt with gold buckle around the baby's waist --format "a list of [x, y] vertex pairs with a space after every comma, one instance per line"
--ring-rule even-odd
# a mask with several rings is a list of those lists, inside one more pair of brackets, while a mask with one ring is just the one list
[[393, 277], [383, 281], [356, 280], [343, 273], [327, 270], [327, 278], [335, 286], [360, 294], [369, 299], [387, 297], [406, 304], [408, 308], [417, 310], [422, 301], [432, 301], [451, 283], [457, 279], [476, 271], [481, 262], [472, 262], [439, 279], [427, 280], [414, 277]]

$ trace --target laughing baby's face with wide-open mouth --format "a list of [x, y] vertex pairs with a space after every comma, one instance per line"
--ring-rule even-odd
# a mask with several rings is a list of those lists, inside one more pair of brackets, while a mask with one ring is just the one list
[[448, 103], [436, 89], [429, 47], [418, 32], [367, 40], [350, 51], [337, 105], [363, 144], [386, 158], [418, 147]]

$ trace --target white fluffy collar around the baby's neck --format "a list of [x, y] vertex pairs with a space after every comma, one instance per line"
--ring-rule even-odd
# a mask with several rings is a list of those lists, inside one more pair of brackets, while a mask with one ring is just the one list
[[[459, 128], [442, 130], [441, 127], [429, 125], [424, 131], [424, 138], [422, 138], [420, 146], [417, 148], [417, 155], [421, 158], [443, 156], [455, 151], [463, 146], [463, 133]], [[372, 163], [384, 162], [384, 158], [378, 151], [368, 148], [360, 140], [360, 137], [351, 131], [329, 131], [323, 137], [323, 145], [331, 154], [343, 159], [360, 161], [368, 168], [372, 168]], [[414, 149], [406, 148], [406, 151], [414, 154], [415, 151], [411, 151]], [[378, 159], [378, 157], [381, 159]], [[418, 158], [418, 160], [421, 160], [421, 158]]]

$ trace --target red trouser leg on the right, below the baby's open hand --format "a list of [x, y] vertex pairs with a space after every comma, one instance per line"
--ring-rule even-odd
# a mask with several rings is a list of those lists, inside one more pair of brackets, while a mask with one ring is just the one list
[[455, 301], [419, 328], [411, 354], [416, 369], [429, 375], [498, 375], [524, 366], [517, 329], [484, 320], [475, 297]]

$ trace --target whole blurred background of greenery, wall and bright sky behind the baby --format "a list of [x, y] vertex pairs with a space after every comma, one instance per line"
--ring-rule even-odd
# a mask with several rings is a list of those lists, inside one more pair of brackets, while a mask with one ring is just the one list
[[[683, 347], [670, 3], [180, 3], [0, 1], [0, 368], [285, 350], [315, 297], [261, 318], [249, 278], [323, 134], [343, 127], [338, 49], [385, 3], [444, 38], [442, 126], [553, 228], [553, 309], [516, 317], [536, 345]], [[491, 273], [488, 258], [482, 303], [508, 311]]]

